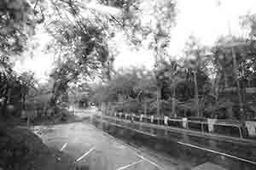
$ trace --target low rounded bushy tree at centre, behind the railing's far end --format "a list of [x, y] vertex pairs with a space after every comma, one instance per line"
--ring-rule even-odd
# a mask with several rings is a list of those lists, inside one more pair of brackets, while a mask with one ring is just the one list
[[119, 97], [124, 103], [117, 104], [120, 110], [143, 110], [143, 103], [154, 98], [154, 78], [152, 73], [143, 68], [131, 68], [117, 71], [116, 75], [105, 84], [99, 84], [93, 93], [96, 103], [116, 103]]

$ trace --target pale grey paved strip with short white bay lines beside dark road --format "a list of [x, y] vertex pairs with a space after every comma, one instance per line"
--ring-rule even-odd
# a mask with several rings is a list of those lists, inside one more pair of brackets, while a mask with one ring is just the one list
[[[76, 111], [76, 116], [79, 119], [95, 113], [96, 110], [93, 109]], [[67, 152], [79, 165], [88, 166], [89, 169], [177, 169], [169, 161], [122, 144], [87, 122], [71, 122], [50, 127], [37, 126], [33, 129], [35, 132], [41, 132], [39, 136], [45, 144]]]

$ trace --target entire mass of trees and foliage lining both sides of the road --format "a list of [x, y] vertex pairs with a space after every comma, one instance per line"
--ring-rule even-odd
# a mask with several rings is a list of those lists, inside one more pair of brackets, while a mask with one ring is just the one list
[[[159, 116], [255, 116], [254, 14], [241, 17], [250, 29], [246, 37], [219, 37], [207, 47], [192, 35], [183, 58], [168, 51], [177, 24], [172, 0], [6, 0], [0, 17], [3, 112], [8, 105], [26, 110], [33, 101], [52, 111], [63, 103], [109, 103], [117, 111]], [[37, 54], [24, 52], [36, 50], [26, 42], [38, 30], [50, 39], [44, 52], [55, 56], [45, 84], [32, 72], [12, 68], [20, 58]], [[113, 39], [120, 32], [133, 50], [153, 52], [154, 68], [114, 68], [119, 48]]]

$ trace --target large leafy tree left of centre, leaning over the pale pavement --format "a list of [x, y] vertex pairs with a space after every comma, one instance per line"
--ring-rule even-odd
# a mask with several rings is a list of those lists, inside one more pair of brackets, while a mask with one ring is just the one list
[[[52, 2], [59, 19], [47, 27], [54, 38], [49, 47], [58, 55], [51, 77], [55, 80], [50, 105], [54, 106], [69, 85], [78, 80], [102, 76], [110, 79], [113, 56], [108, 48], [108, 28], [105, 16], [82, 16], [88, 10], [78, 2]], [[61, 10], [63, 9], [63, 10]]]

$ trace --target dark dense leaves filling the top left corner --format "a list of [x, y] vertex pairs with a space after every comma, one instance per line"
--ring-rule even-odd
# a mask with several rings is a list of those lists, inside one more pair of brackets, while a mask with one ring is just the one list
[[0, 20], [1, 55], [13, 57], [26, 47], [26, 40], [44, 21], [44, 14], [26, 0], [7, 0], [0, 2]]

